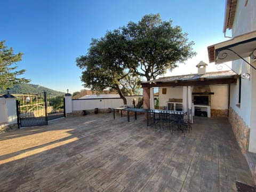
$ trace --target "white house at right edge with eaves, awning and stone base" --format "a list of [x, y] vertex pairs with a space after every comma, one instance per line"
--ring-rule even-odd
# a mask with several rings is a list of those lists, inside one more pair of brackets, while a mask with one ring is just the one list
[[209, 61], [232, 61], [241, 76], [230, 89], [229, 120], [256, 181], [256, 1], [226, 0], [225, 35], [227, 29], [232, 39], [209, 46]]

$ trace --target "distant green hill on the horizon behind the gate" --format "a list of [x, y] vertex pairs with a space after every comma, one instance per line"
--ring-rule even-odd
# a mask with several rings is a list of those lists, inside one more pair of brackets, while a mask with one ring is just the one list
[[[40, 85], [34, 85], [34, 84], [29, 84], [29, 83], [21, 83], [14, 85], [10, 89], [11, 94], [38, 94], [46, 91], [47, 93], [51, 93], [54, 95], [58, 94], [65, 94], [60, 91], [54, 91], [52, 89], [48, 89], [46, 87], [40, 86]], [[1, 92], [0, 94], [6, 94], [6, 91]]]

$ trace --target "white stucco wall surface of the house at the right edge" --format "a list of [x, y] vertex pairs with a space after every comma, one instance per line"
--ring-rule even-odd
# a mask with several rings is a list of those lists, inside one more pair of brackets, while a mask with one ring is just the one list
[[[238, 1], [236, 15], [232, 28], [232, 35], [236, 37], [245, 33], [256, 30], [256, 1]], [[250, 63], [249, 58], [245, 58]], [[254, 64], [255, 65], [255, 64]], [[238, 84], [231, 86], [230, 107], [243, 119], [245, 124], [251, 129], [249, 139], [249, 151], [256, 153], [256, 73], [247, 63], [242, 60], [232, 62], [232, 68], [238, 73], [250, 73], [250, 79], [242, 79], [241, 86], [241, 105], [238, 107]]]

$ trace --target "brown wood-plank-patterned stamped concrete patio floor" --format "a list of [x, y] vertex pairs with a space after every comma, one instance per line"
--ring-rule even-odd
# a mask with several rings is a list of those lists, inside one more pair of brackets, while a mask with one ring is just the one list
[[61, 118], [0, 135], [0, 191], [236, 191], [254, 185], [226, 118], [186, 137], [113, 114]]

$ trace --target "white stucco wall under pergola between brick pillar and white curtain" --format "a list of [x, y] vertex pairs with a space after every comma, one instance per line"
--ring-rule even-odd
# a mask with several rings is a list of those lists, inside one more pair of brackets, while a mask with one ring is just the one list
[[166, 88], [166, 94], [162, 94], [162, 87], [159, 88], [159, 107], [166, 106], [169, 98], [182, 99], [183, 87]]

